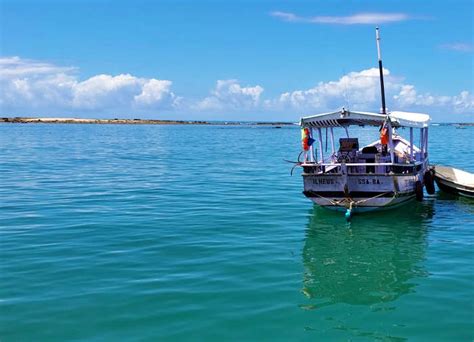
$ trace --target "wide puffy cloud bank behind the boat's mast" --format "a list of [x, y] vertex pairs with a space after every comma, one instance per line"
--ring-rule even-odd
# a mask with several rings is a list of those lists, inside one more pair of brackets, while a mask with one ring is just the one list
[[[446, 113], [474, 111], [474, 98], [468, 91], [459, 95], [432, 95], [418, 93], [414, 85], [405, 84], [400, 77], [384, 69], [388, 109], [443, 110]], [[293, 109], [300, 112], [334, 110], [346, 106], [353, 110], [377, 110], [380, 108], [379, 70], [371, 68], [350, 72], [337, 81], [320, 82], [306, 90], [285, 92], [278, 99], [267, 100], [267, 108]]]

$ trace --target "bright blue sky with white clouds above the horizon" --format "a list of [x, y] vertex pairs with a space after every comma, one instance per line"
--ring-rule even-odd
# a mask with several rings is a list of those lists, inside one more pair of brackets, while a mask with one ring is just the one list
[[296, 120], [389, 109], [473, 121], [472, 0], [0, 0], [0, 114]]

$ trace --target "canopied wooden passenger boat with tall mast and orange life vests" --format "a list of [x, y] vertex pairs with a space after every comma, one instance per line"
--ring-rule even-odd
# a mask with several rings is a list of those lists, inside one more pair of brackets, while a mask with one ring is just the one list
[[[389, 209], [415, 198], [421, 201], [424, 187], [429, 194], [435, 192], [433, 170], [428, 159], [430, 116], [387, 111], [378, 28], [376, 41], [381, 112], [343, 108], [300, 120], [302, 152], [297, 166], [303, 168], [303, 194], [319, 206], [345, 211], [347, 219], [351, 218], [353, 212]], [[354, 126], [378, 127], [380, 139], [359, 146], [359, 138], [351, 136], [350, 129]], [[401, 128], [409, 129], [408, 139], [399, 134]], [[339, 139], [338, 146], [335, 141], [337, 130], [342, 130], [344, 135]], [[415, 130], [419, 130], [419, 146], [414, 143]], [[324, 133], [326, 149], [327, 137], [330, 136], [331, 150], [328, 155], [324, 154]]]

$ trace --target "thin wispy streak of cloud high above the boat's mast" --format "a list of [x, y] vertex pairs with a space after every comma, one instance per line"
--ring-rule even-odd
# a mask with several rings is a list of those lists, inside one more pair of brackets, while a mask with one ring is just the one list
[[274, 11], [270, 15], [288, 22], [336, 25], [380, 25], [411, 19], [404, 13], [356, 13], [349, 16], [302, 17], [290, 12]]

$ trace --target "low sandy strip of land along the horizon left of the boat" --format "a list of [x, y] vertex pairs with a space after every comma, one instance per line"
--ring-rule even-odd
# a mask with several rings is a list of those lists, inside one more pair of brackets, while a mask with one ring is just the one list
[[3, 117], [0, 123], [48, 123], [48, 124], [122, 124], [122, 125], [268, 125], [290, 126], [291, 122], [237, 122], [237, 121], [186, 121], [186, 120], [154, 120], [154, 119], [81, 119], [81, 118], [33, 118]]

